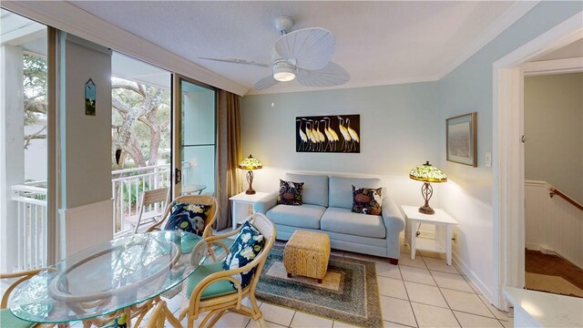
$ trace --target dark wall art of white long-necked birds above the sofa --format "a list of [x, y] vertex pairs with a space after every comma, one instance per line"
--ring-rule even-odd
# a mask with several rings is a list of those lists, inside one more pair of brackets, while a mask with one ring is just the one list
[[361, 116], [327, 115], [295, 119], [298, 152], [361, 152]]

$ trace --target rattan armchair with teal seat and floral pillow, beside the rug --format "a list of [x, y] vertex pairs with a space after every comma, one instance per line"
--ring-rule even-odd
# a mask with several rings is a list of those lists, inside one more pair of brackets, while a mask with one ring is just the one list
[[[229, 237], [234, 235], [237, 238], [233, 242]], [[265, 326], [255, 298], [255, 288], [275, 237], [273, 222], [265, 215], [255, 213], [251, 220], [243, 222], [237, 230], [206, 238], [210, 249], [214, 249], [217, 254], [226, 254], [220, 261], [205, 261], [205, 264], [190, 275], [187, 297], [183, 298], [179, 320], [187, 316], [188, 327], [191, 328], [200, 313], [209, 312], [199, 327], [212, 327], [223, 313], [231, 311], [250, 316], [260, 326]], [[231, 247], [227, 246], [231, 243]], [[197, 248], [199, 247], [206, 245], [199, 243]], [[250, 255], [251, 250], [253, 256]], [[195, 248], [192, 253], [199, 252]], [[192, 258], [191, 261], [198, 262], [199, 259]], [[243, 305], [243, 300], [247, 297], [250, 306]]]

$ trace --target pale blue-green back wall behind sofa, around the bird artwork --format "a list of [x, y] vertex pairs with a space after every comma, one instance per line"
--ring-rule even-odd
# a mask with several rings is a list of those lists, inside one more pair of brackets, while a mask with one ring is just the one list
[[[414, 166], [439, 158], [436, 91], [435, 82], [425, 82], [246, 96], [243, 154], [273, 169], [406, 176]], [[360, 114], [359, 154], [296, 152], [296, 117], [336, 114]]]

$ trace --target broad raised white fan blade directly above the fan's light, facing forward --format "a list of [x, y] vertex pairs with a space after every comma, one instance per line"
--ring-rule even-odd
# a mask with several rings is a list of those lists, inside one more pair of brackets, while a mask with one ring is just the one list
[[336, 38], [321, 27], [303, 28], [281, 36], [275, 43], [280, 56], [302, 69], [321, 69], [334, 55]]

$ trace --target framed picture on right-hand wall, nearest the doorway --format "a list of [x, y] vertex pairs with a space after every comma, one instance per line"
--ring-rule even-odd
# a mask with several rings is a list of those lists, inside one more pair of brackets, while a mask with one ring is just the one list
[[447, 160], [477, 167], [477, 113], [445, 120]]

